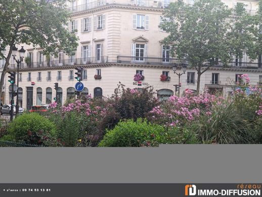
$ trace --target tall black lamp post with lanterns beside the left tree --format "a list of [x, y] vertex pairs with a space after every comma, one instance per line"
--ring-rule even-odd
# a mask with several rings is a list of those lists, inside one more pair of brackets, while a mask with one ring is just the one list
[[19, 54], [20, 57], [19, 59], [16, 59], [16, 52], [17, 52], [18, 48], [13, 45], [13, 59], [16, 61], [17, 63], [17, 93], [16, 93], [16, 117], [19, 114], [19, 98], [18, 98], [18, 89], [19, 89], [19, 65], [21, 62], [23, 62], [23, 58], [25, 55], [25, 50], [24, 50], [24, 46], [21, 46], [21, 49], [19, 50]]

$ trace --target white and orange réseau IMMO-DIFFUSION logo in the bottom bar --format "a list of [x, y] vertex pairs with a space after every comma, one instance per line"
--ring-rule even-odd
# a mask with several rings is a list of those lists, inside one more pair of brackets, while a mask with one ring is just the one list
[[[243, 185], [242, 185], [243, 186]], [[185, 185], [185, 196], [197, 195], [197, 196], [260, 196], [261, 185], [260, 184], [248, 184], [248, 187], [239, 187], [235, 189], [197, 189], [196, 185], [187, 184]]]

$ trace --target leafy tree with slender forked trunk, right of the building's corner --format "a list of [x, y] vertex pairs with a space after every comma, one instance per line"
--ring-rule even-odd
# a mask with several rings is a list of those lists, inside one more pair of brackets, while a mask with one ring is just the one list
[[178, 0], [163, 14], [166, 19], [160, 26], [169, 33], [164, 43], [171, 45], [173, 57], [187, 60], [196, 69], [197, 94], [201, 75], [218, 60], [227, 66], [232, 55], [241, 58], [248, 52], [254, 58], [254, 37], [249, 35], [254, 21], [241, 4], [233, 10], [220, 0], [196, 0], [193, 6]]

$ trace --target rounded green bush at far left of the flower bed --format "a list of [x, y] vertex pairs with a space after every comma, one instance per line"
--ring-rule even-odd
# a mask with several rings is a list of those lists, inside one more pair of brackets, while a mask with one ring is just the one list
[[37, 113], [18, 116], [10, 123], [8, 135], [17, 142], [56, 146], [56, 126]]

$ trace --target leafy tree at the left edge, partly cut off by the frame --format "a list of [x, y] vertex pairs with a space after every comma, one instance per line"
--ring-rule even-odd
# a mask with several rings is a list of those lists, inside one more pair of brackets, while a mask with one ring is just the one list
[[[44, 55], [57, 50], [72, 55], [78, 38], [66, 29], [70, 13], [66, 0], [0, 0], [0, 57], [6, 60], [0, 81], [0, 95], [14, 44], [43, 48]], [[4, 51], [9, 46], [7, 56]]]

